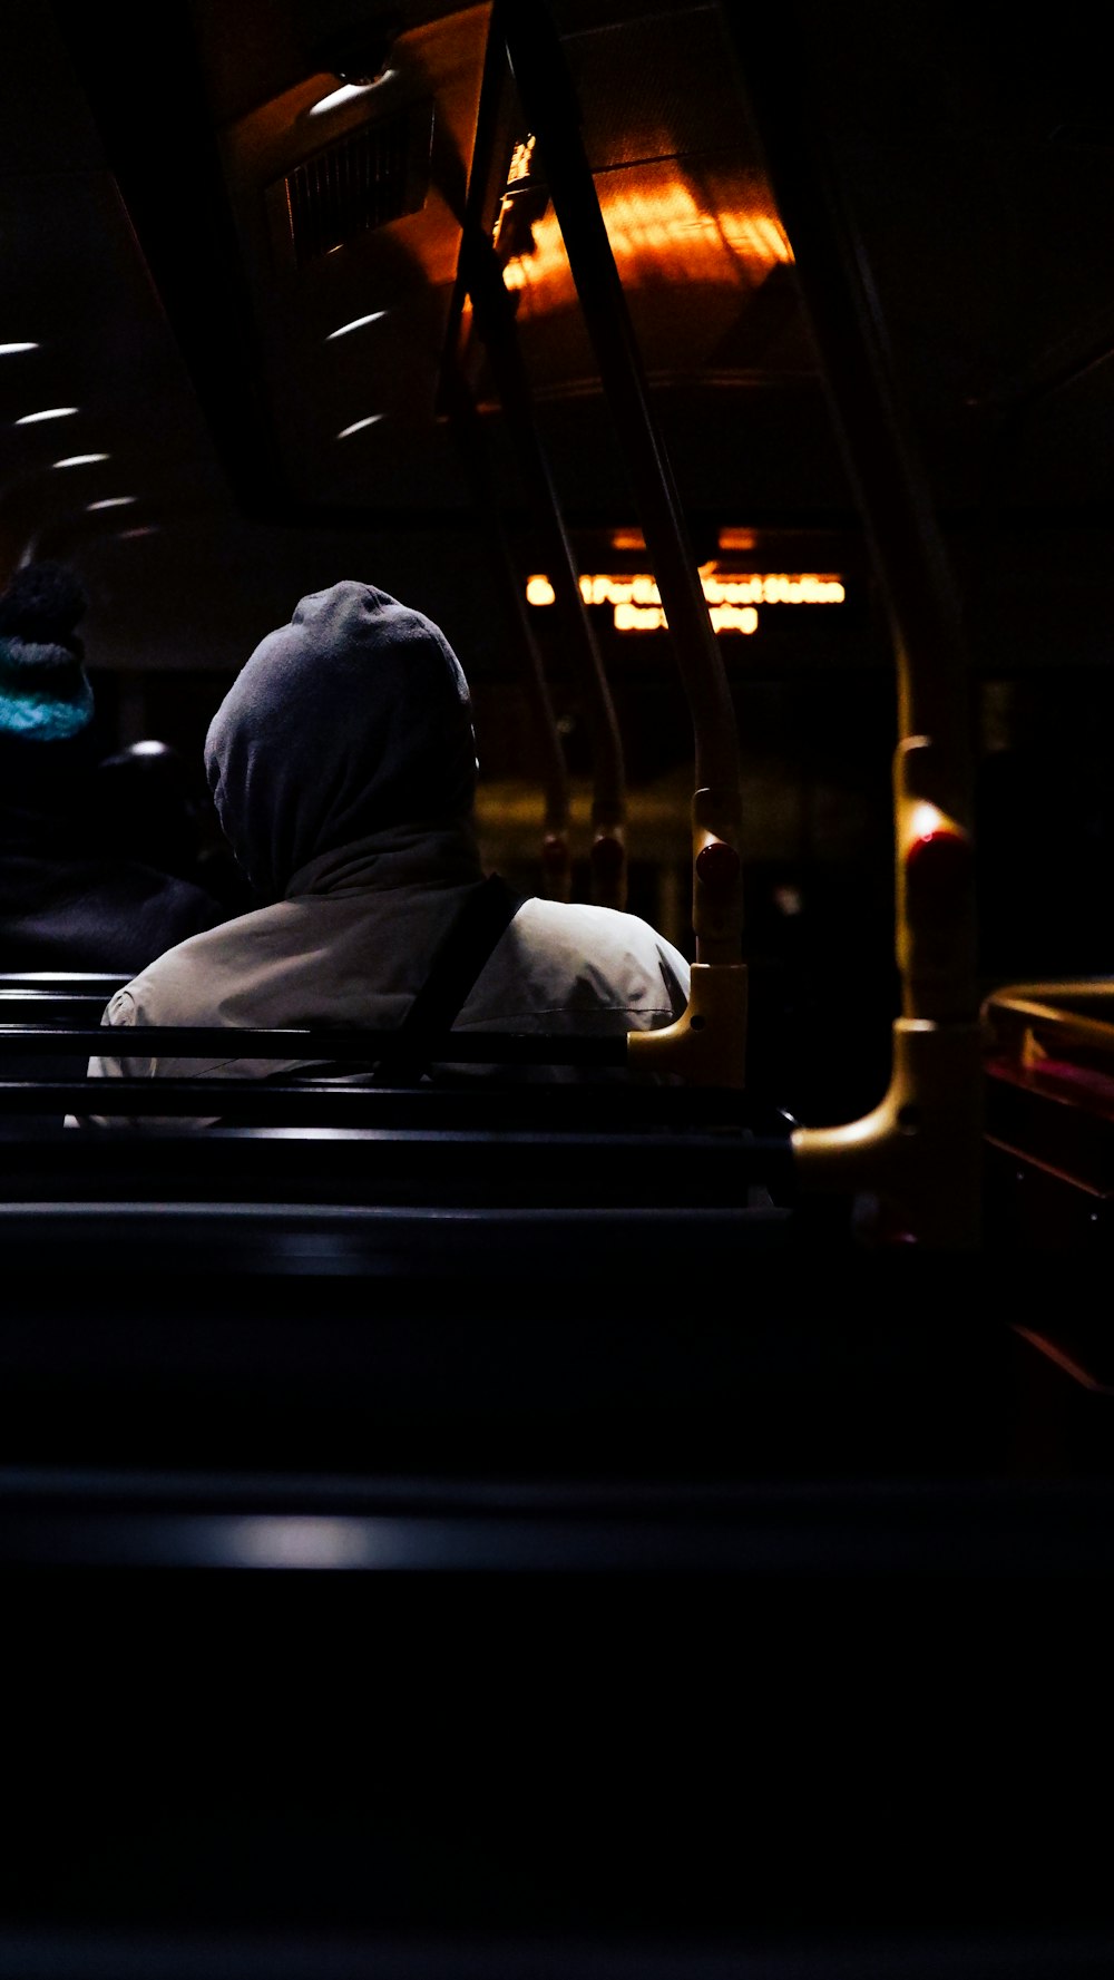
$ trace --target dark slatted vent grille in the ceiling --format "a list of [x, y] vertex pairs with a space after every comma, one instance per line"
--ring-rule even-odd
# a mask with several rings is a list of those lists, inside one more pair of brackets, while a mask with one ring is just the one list
[[433, 105], [362, 125], [297, 164], [273, 192], [297, 267], [332, 253], [358, 234], [416, 214], [429, 192]]

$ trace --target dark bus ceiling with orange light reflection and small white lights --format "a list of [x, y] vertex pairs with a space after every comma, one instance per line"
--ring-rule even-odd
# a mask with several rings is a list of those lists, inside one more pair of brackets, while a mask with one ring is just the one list
[[[1021, 590], [1035, 556], [1090, 570], [1114, 493], [1114, 113], [1086, 18], [1007, 36], [989, 8], [797, 0], [774, 44], [716, 0], [554, 18], [695, 541], [855, 529], [746, 109], [748, 61], [780, 59], [823, 121], [960, 562], [1009, 525], [981, 570], [997, 636], [1009, 558]], [[528, 515], [459, 287], [469, 212], [568, 521], [637, 521], [512, 85], [477, 156], [489, 4], [162, 0], [154, 22], [131, 0], [10, 0], [4, 28], [0, 345], [34, 348], [0, 354], [0, 554], [71, 556], [101, 651], [237, 663], [356, 558], [388, 588], [421, 558], [437, 610], [469, 570], [457, 358], [499, 501]], [[344, 79], [356, 93], [319, 109]]]

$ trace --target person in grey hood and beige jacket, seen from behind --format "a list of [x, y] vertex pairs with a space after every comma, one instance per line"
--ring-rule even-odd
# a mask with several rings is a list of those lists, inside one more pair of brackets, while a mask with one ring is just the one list
[[[222, 830], [259, 905], [140, 970], [113, 996], [103, 1024], [232, 1034], [400, 1026], [463, 899], [485, 877], [471, 695], [443, 632], [372, 584], [342, 580], [309, 594], [232, 683], [204, 760]], [[673, 1024], [687, 1002], [689, 962], [641, 917], [528, 897], [455, 1030], [615, 1036]], [[253, 1059], [237, 1055], [232, 1036], [206, 1059], [105, 1051], [89, 1073], [253, 1079], [297, 1073], [321, 1057], [315, 1040], [303, 1055]], [[586, 1069], [516, 1073], [578, 1079]]]

